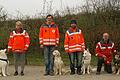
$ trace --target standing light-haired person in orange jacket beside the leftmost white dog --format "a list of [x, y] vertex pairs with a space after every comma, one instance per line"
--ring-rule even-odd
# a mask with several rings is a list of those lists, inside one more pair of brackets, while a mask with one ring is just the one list
[[8, 42], [8, 53], [12, 51], [14, 55], [15, 73], [18, 75], [18, 66], [21, 66], [21, 76], [24, 75], [25, 53], [28, 50], [30, 38], [26, 30], [23, 29], [20, 21], [16, 22], [16, 29], [10, 33]]

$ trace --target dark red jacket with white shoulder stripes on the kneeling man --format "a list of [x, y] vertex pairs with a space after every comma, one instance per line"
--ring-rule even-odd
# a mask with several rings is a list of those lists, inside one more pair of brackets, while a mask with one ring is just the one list
[[108, 43], [105, 43], [103, 40], [98, 42], [96, 45], [96, 56], [103, 57], [106, 56], [105, 63], [108, 64], [112, 61], [112, 53], [115, 53], [115, 47], [114, 43], [111, 41], [108, 41]]

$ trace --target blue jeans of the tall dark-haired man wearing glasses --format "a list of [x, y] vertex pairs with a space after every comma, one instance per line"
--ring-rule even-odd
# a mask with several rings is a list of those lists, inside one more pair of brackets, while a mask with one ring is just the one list
[[44, 46], [44, 60], [45, 60], [45, 72], [50, 73], [53, 72], [53, 51], [55, 46]]

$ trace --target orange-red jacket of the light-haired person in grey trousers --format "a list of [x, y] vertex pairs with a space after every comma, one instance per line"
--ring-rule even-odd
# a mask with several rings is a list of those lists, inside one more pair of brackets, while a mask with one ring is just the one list
[[30, 39], [28, 33], [23, 30], [22, 33], [13, 31], [10, 33], [10, 38], [8, 42], [8, 49], [12, 49], [13, 52], [22, 52], [27, 50], [30, 44]]

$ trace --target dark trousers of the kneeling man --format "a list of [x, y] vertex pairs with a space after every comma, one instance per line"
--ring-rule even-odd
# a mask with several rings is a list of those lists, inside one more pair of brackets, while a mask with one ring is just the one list
[[104, 70], [107, 73], [112, 73], [112, 65], [111, 63], [105, 64], [104, 58], [98, 58], [98, 63], [97, 63], [97, 72], [101, 71], [102, 65], [104, 64]]

